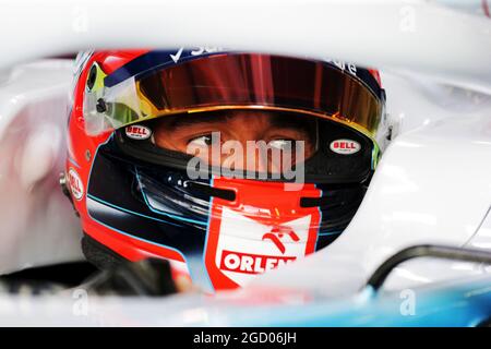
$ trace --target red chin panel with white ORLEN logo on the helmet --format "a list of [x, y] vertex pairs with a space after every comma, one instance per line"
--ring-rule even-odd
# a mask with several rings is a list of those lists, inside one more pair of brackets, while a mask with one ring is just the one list
[[215, 179], [214, 186], [237, 195], [212, 204], [205, 264], [215, 289], [243, 286], [315, 251], [319, 209], [300, 206], [301, 197], [321, 195], [313, 184], [285, 191], [284, 183]]

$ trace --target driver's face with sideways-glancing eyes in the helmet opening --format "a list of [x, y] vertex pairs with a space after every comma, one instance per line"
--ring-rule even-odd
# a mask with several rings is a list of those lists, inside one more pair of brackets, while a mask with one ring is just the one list
[[[200, 154], [211, 152], [212, 145], [214, 145], [212, 144], [212, 133], [218, 132], [219, 146], [221, 147], [228, 141], [238, 142], [244, 152], [241, 168], [255, 171], [274, 171], [276, 166], [270, 159], [262, 161], [259, 156], [255, 158], [255, 165], [248, 163], [246, 154], [248, 141], [264, 141], [271, 147], [279, 149], [284, 149], [285, 145], [291, 142], [291, 154], [295, 153], [295, 142], [303, 141], [304, 158], [307, 159], [315, 151], [316, 139], [314, 120], [263, 110], [223, 110], [165, 117], [158, 120], [153, 130], [157, 146], [188, 154], [191, 154], [190, 148], [204, 151]], [[223, 165], [226, 157], [227, 155], [220, 152], [220, 164], [212, 165]], [[207, 158], [212, 159], [211, 156]], [[295, 159], [292, 163], [295, 164]]]

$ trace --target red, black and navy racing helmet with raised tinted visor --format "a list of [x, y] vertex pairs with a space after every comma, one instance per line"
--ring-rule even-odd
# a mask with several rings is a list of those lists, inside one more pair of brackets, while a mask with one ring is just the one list
[[[157, 257], [209, 291], [243, 286], [343, 233], [390, 135], [378, 71], [340, 61], [181, 48], [87, 51], [75, 67], [65, 192], [101, 268]], [[237, 113], [308, 130], [300, 182], [159, 145], [176, 124]]]

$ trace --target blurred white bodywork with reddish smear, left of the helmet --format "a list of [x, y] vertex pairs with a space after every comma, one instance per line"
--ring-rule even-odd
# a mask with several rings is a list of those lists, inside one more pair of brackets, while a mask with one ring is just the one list
[[0, 73], [0, 273], [81, 258], [79, 221], [58, 183], [73, 62]]

